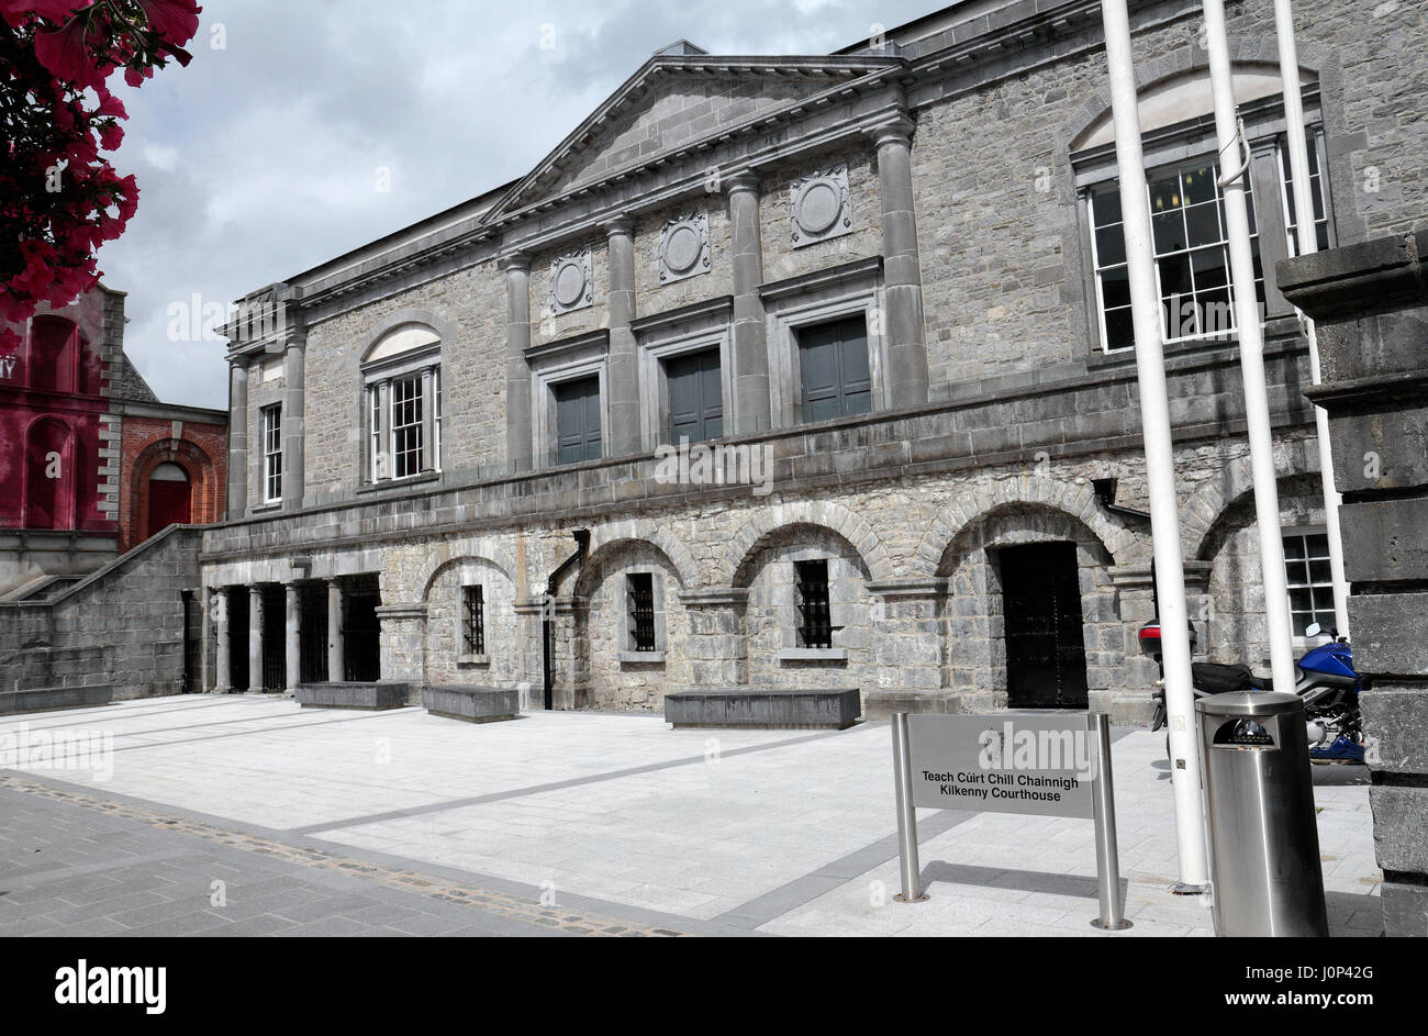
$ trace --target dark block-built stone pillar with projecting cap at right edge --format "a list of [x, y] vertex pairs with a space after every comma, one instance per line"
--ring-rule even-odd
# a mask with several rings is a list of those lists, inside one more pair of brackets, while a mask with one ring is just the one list
[[1317, 322], [1384, 932], [1428, 936], [1428, 229], [1278, 266]]

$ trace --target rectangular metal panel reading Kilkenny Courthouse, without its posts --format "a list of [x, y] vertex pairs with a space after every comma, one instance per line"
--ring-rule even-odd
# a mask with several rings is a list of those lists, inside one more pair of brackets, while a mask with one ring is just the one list
[[1085, 714], [912, 716], [912, 805], [1091, 819]]

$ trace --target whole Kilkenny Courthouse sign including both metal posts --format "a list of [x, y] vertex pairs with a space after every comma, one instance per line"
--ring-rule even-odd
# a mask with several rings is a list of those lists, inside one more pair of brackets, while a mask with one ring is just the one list
[[1095, 822], [1101, 916], [1091, 923], [1108, 930], [1131, 926], [1121, 903], [1111, 730], [1104, 714], [894, 713], [892, 774], [900, 902], [927, 899], [917, 852], [918, 806], [1070, 816]]

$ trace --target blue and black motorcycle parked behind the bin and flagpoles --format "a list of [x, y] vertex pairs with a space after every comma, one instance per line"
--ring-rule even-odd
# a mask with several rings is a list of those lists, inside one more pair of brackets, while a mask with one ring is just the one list
[[[1354, 672], [1354, 653], [1348, 639], [1338, 636], [1334, 627], [1324, 630], [1318, 623], [1311, 624], [1305, 633], [1309, 637], [1325, 634], [1329, 637], [1328, 643], [1305, 652], [1295, 666], [1294, 693], [1304, 699], [1309, 762], [1362, 763], [1364, 729], [1358, 710], [1358, 692], [1364, 689], [1364, 680]], [[1141, 627], [1140, 640], [1142, 649], [1160, 660], [1160, 623], [1152, 620]], [[1269, 677], [1257, 676], [1248, 666], [1224, 666], [1212, 662], [1191, 663], [1191, 684], [1197, 699], [1231, 690], [1274, 690]], [[1167, 719], [1162, 683], [1157, 686], [1152, 697], [1155, 719], [1151, 730], [1160, 730]]]

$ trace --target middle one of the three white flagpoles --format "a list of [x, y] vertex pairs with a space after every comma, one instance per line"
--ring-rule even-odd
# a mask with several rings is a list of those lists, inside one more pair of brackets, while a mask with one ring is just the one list
[[1259, 327], [1259, 302], [1254, 290], [1254, 256], [1250, 250], [1250, 214], [1245, 207], [1248, 144], [1235, 113], [1224, 0], [1204, 0], [1204, 7], [1210, 84], [1215, 97], [1215, 137], [1220, 141], [1220, 186], [1224, 191], [1235, 296], [1235, 332], [1240, 336], [1240, 372], [1245, 386], [1245, 423], [1250, 426], [1250, 470], [1254, 477], [1255, 524], [1259, 527], [1269, 664], [1274, 670], [1274, 689], [1292, 694], [1294, 630], [1289, 624], [1289, 587], [1284, 573], [1284, 532], [1279, 527], [1279, 489], [1274, 473], [1274, 436], [1269, 432], [1269, 392], [1264, 376], [1264, 330]]

